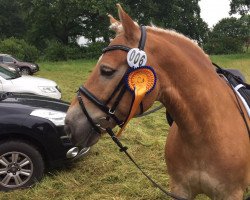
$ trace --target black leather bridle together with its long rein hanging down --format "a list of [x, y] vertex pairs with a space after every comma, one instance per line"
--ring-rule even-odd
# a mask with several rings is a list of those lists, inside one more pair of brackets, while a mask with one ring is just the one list
[[[146, 34], [146, 27], [145, 26], [141, 26], [141, 38], [139, 41], [139, 45], [138, 45], [138, 49], [139, 50], [143, 50], [145, 47], [145, 43], [146, 43], [146, 38], [147, 38], [147, 34]], [[114, 50], [122, 50], [125, 52], [129, 52], [132, 48], [124, 46], [124, 45], [112, 45], [112, 46], [108, 46], [106, 48], [103, 49], [103, 53], [106, 53], [108, 51], [114, 51]], [[130, 106], [130, 111], [129, 114], [126, 118], [125, 121], [119, 120], [118, 117], [115, 115], [115, 110], [117, 108], [117, 106], [119, 105], [120, 100], [122, 99], [123, 95], [125, 94], [125, 92], [127, 91], [126, 86], [124, 85], [124, 79], [126, 74], [129, 72], [130, 69], [128, 69], [126, 71], [126, 73], [124, 74], [123, 78], [121, 79], [121, 81], [118, 83], [118, 85], [116, 86], [116, 88], [114, 89], [114, 91], [112, 92], [112, 94], [110, 95], [110, 97], [107, 99], [106, 102], [102, 102], [100, 101], [94, 94], [92, 94], [87, 88], [85, 88], [84, 86], [80, 86], [79, 90], [77, 92], [77, 99], [78, 102], [80, 104], [80, 107], [83, 111], [83, 113], [86, 115], [89, 123], [91, 124], [91, 126], [93, 127], [93, 129], [95, 130], [95, 132], [97, 134], [101, 134], [102, 130], [103, 131], [107, 131], [107, 133], [110, 135], [110, 137], [112, 138], [112, 140], [115, 142], [115, 144], [120, 148], [120, 152], [124, 152], [128, 158], [131, 160], [132, 163], [134, 163], [134, 165], [142, 172], [143, 175], [146, 176], [146, 178], [157, 188], [159, 188], [163, 193], [165, 193], [167, 196], [176, 199], [176, 200], [187, 200], [185, 198], [179, 197], [175, 194], [172, 194], [166, 190], [164, 190], [160, 185], [158, 185], [152, 178], [150, 178], [142, 169], [141, 167], [135, 162], [135, 160], [131, 157], [131, 155], [127, 152], [127, 147], [123, 146], [122, 143], [119, 141], [119, 139], [117, 138], [117, 136], [114, 134], [114, 132], [112, 131], [111, 128], [103, 128], [101, 127], [100, 124], [95, 123], [94, 120], [91, 118], [91, 116], [89, 115], [84, 102], [82, 100], [81, 94], [84, 95], [88, 100], [90, 100], [95, 106], [97, 106], [101, 111], [103, 111], [105, 114], [107, 114], [107, 117], [105, 118], [105, 120], [109, 120], [110, 118], [112, 118], [116, 124], [121, 128], [120, 132], [118, 133], [118, 135], [121, 133], [121, 131], [124, 129], [124, 127], [126, 126], [127, 122], [130, 120], [130, 118], [133, 116], [133, 112], [135, 111], [135, 109], [137, 107], [134, 107], [134, 100], [135, 100], [135, 95], [133, 96], [133, 101], [132, 104]], [[153, 89], [153, 87], [151, 88]], [[119, 92], [120, 91], [120, 92]], [[150, 90], [151, 91], [151, 90]], [[111, 107], [108, 107], [107, 104], [114, 98], [114, 96], [119, 92], [119, 94], [117, 95], [114, 104]], [[136, 91], [135, 91], [136, 93]], [[144, 95], [141, 97], [143, 98]], [[161, 107], [159, 107], [161, 108]], [[156, 109], [159, 109], [156, 108]], [[141, 110], [141, 114], [143, 113], [143, 105], [142, 105], [142, 101], [140, 102], [140, 110]], [[148, 114], [148, 113], [145, 113]]]

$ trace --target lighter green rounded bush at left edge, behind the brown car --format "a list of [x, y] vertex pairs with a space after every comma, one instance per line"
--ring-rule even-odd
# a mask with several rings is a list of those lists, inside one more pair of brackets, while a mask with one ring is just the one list
[[37, 60], [40, 54], [35, 46], [28, 44], [23, 39], [13, 37], [0, 42], [0, 52], [11, 54], [20, 60], [29, 62]]

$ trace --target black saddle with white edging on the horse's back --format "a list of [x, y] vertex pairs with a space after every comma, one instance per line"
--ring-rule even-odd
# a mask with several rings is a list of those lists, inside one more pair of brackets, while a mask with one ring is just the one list
[[[213, 63], [213, 65], [216, 67], [218, 75], [223, 76], [228, 84], [232, 86], [232, 89], [238, 94], [250, 117], [250, 85], [246, 83], [244, 75], [236, 69], [223, 69], [215, 63]], [[166, 118], [168, 124], [171, 126], [174, 119], [168, 112], [166, 112]]]

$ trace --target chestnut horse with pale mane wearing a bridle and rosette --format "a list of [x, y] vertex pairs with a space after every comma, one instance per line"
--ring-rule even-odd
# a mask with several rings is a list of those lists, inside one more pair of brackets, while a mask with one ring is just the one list
[[242, 199], [250, 185], [246, 128], [250, 122], [249, 118], [244, 122], [233, 90], [191, 39], [173, 30], [146, 26], [147, 37], [141, 41], [141, 28], [119, 4], [117, 7], [119, 20], [109, 15], [116, 36], [67, 112], [65, 131], [72, 142], [89, 147], [107, 128], [122, 127], [120, 122], [128, 118], [134, 98], [121, 86], [130, 67], [128, 51], [144, 42], [145, 65], [153, 68], [157, 80], [134, 114], [160, 101], [174, 120], [165, 146], [171, 192], [186, 199], [198, 194], [211, 199]]

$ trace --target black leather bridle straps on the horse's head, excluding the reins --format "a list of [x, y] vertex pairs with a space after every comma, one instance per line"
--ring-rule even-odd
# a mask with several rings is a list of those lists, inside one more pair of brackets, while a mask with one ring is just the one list
[[[141, 38], [140, 38], [140, 41], [139, 41], [138, 48], [140, 50], [143, 50], [144, 47], [145, 47], [146, 37], [147, 37], [146, 27], [141, 26], [140, 29], [141, 29]], [[106, 53], [108, 51], [114, 51], [114, 50], [122, 50], [122, 51], [125, 51], [125, 52], [129, 52], [131, 49], [132, 48], [124, 46], [124, 45], [112, 45], [112, 46], [108, 46], [108, 47], [104, 48], [102, 50], [102, 53]], [[127, 74], [127, 71], [124, 73], [121, 81], [118, 83], [118, 85], [116, 86], [116, 88], [114, 89], [114, 91], [112, 92], [110, 97], [105, 102], [100, 101], [93, 93], [91, 93], [84, 86], [79, 87], [79, 90], [77, 92], [78, 102], [79, 102], [79, 104], [81, 106], [81, 109], [82, 109], [83, 113], [86, 115], [89, 123], [91, 124], [91, 126], [93, 127], [93, 129], [95, 130], [96, 133], [100, 134], [101, 130], [106, 130], [106, 129], [101, 127], [100, 124], [94, 122], [94, 120], [89, 115], [89, 113], [88, 113], [88, 111], [87, 111], [87, 109], [86, 109], [86, 107], [84, 105], [84, 102], [82, 100], [81, 95], [84, 95], [89, 101], [91, 101], [95, 106], [97, 106], [102, 112], [104, 112], [107, 115], [105, 120], [108, 121], [110, 118], [112, 118], [119, 127], [122, 127], [126, 120], [125, 121], [120, 120], [115, 115], [115, 111], [116, 111], [117, 106], [119, 105], [119, 102], [121, 101], [122, 97], [124, 96], [125, 92], [127, 91], [126, 85], [124, 84], [124, 79], [125, 79], [125, 75]], [[114, 96], [118, 92], [119, 92], [119, 94], [117, 95], [113, 105], [111, 107], [109, 107], [108, 103], [114, 98]], [[143, 113], [143, 105], [142, 104], [140, 104], [140, 109], [141, 109], [141, 113]], [[130, 111], [131, 111], [131, 106], [130, 106]]]

